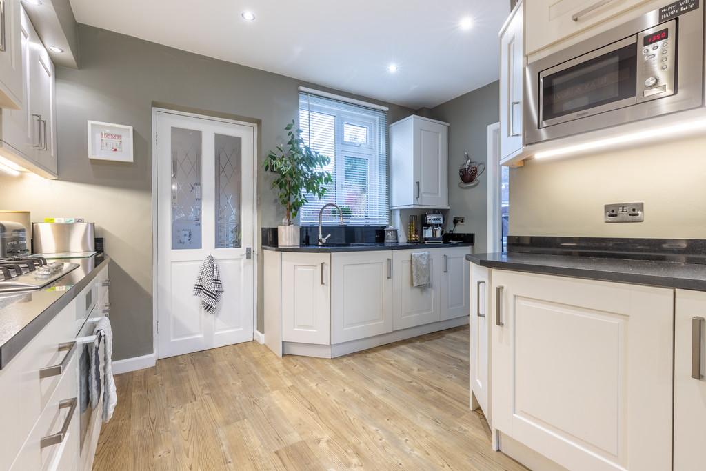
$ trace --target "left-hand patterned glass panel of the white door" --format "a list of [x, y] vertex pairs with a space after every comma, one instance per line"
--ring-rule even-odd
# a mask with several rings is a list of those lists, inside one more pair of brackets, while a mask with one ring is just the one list
[[174, 127], [172, 249], [201, 249], [201, 131]]

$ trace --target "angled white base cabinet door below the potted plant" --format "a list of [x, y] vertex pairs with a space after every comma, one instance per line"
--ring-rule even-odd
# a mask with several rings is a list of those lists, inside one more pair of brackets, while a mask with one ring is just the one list
[[282, 254], [282, 340], [330, 345], [330, 254]]

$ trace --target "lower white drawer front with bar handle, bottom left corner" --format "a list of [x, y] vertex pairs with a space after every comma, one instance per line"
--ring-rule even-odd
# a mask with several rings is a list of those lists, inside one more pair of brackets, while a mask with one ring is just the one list
[[[79, 453], [80, 434], [77, 365], [77, 359], [73, 357], [11, 470], [73, 470]], [[61, 434], [61, 431], [65, 433]]]

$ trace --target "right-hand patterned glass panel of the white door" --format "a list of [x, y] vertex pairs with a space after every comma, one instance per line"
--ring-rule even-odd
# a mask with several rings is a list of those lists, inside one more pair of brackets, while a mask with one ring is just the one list
[[241, 246], [242, 139], [215, 135], [216, 249]]

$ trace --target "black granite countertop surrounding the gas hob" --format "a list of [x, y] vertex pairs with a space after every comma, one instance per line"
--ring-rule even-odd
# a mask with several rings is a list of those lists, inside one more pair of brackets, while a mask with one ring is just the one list
[[110, 258], [62, 258], [79, 267], [41, 290], [0, 294], [0, 369], [40, 333], [96, 277]]

